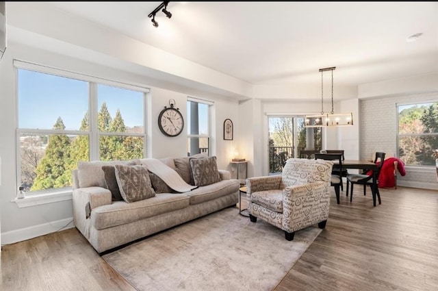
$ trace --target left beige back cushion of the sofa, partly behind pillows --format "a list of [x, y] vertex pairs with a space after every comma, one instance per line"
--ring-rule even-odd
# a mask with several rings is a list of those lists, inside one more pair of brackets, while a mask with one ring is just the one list
[[99, 186], [106, 188], [105, 175], [102, 166], [114, 166], [116, 164], [140, 164], [140, 160], [129, 161], [80, 161], [77, 163], [77, 177], [79, 180], [79, 188]]

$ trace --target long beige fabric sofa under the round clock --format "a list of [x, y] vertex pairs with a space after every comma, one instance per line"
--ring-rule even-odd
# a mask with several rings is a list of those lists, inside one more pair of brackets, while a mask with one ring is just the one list
[[[142, 161], [144, 160], [79, 162], [78, 168], [73, 170], [74, 224], [98, 253], [234, 206], [238, 202], [240, 183], [237, 179], [230, 179], [231, 175], [227, 170], [218, 170], [220, 181], [198, 186], [190, 192], [162, 192], [158, 190], [162, 187], [156, 186], [157, 191], [153, 197], [131, 203], [124, 200], [114, 201], [102, 166], [141, 165]], [[161, 161], [177, 171], [181, 177], [185, 174], [187, 181], [192, 179], [189, 177], [190, 173], [183, 173], [184, 170], [178, 166], [181, 161], [186, 164], [188, 157], [166, 158]], [[151, 186], [154, 188], [153, 183]]]

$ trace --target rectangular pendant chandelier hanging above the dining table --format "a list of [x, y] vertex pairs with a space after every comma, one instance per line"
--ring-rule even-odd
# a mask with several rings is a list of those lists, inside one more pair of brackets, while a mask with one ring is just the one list
[[[339, 113], [335, 114], [333, 110], [333, 71], [335, 66], [331, 68], [320, 68], [321, 72], [321, 114], [318, 115], [306, 115], [304, 116], [304, 127], [335, 127], [353, 125], [353, 114]], [[331, 71], [331, 112], [324, 113], [324, 71]]]

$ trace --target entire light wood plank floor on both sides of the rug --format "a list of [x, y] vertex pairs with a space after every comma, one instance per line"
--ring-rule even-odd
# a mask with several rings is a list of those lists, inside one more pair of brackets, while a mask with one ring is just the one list
[[[275, 290], [438, 290], [438, 192], [383, 189], [373, 207], [361, 191], [339, 205], [333, 192], [326, 229]], [[135, 288], [68, 229], [3, 246], [0, 290]]]

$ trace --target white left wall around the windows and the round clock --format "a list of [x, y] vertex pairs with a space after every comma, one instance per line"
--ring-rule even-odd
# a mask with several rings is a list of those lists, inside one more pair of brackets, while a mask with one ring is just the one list
[[[212, 120], [214, 127], [211, 139], [212, 155], [218, 156], [218, 167], [229, 168], [231, 160], [231, 142], [223, 140], [223, 121], [230, 118], [234, 122], [235, 130], [239, 130], [238, 101], [220, 95], [194, 91], [190, 88], [181, 88], [180, 91], [167, 90], [153, 86], [162, 85], [154, 79], [148, 79], [126, 71], [108, 68], [91, 62], [84, 62], [64, 55], [39, 50], [10, 42], [3, 60], [0, 63], [0, 156], [2, 159], [2, 173], [0, 186], [0, 223], [1, 242], [8, 244], [25, 240], [34, 236], [57, 231], [62, 227], [72, 227], [73, 208], [71, 200], [34, 205], [19, 208], [16, 197], [16, 73], [12, 60], [23, 60], [36, 64], [44, 64], [54, 68], [93, 75], [128, 84], [136, 84], [151, 88], [148, 100], [148, 155], [149, 157], [177, 157], [187, 155], [187, 131], [183, 131], [176, 138], [164, 136], [157, 126], [158, 114], [169, 99], [175, 99], [177, 107], [187, 121], [187, 97], [196, 97], [214, 101]], [[38, 110], [38, 108], [36, 108]], [[215, 137], [216, 136], [216, 137]], [[238, 136], [237, 136], [238, 138]], [[233, 141], [237, 142], [237, 140]]]

